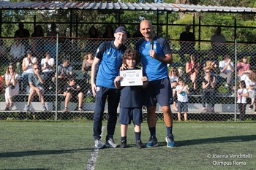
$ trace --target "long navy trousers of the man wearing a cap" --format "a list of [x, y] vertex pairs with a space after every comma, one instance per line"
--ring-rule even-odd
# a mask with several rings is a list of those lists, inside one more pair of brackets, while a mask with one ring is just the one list
[[120, 91], [112, 88], [97, 86], [99, 90], [96, 92], [95, 108], [94, 108], [94, 140], [101, 139], [102, 119], [105, 109], [105, 102], [108, 98], [108, 125], [106, 140], [113, 138], [116, 128], [117, 107], [120, 99]]

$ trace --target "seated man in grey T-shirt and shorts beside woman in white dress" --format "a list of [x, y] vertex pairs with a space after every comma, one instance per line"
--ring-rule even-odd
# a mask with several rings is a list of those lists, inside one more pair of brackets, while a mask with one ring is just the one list
[[47, 109], [45, 107], [45, 99], [44, 99], [44, 88], [43, 87], [43, 83], [44, 80], [40, 75], [40, 71], [39, 71], [39, 66], [37, 63], [33, 64], [33, 74], [29, 74], [29, 86], [30, 86], [30, 90], [29, 90], [29, 100], [28, 100], [28, 104], [26, 105], [26, 112], [29, 112], [30, 109], [30, 104], [32, 99], [34, 98], [34, 95], [37, 93], [38, 97], [39, 97], [39, 101], [41, 101], [42, 104], [42, 111], [45, 112]]

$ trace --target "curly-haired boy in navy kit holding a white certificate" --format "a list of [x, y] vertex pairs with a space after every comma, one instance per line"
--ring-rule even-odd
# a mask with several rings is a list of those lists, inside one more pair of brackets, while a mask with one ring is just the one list
[[[122, 62], [127, 69], [139, 69], [136, 66], [138, 63], [138, 57], [135, 50], [128, 49], [125, 51]], [[141, 128], [140, 123], [142, 123], [142, 88], [146, 88], [148, 85], [148, 78], [141, 77], [143, 81], [142, 86], [124, 86], [121, 87], [120, 81], [123, 77], [118, 76], [114, 80], [115, 86], [121, 89], [120, 97], [120, 113], [119, 113], [119, 123], [121, 124], [121, 147], [127, 147], [127, 128], [128, 124], [131, 124], [131, 120], [135, 125], [135, 141], [138, 148], [143, 148], [143, 142], [140, 140]]]

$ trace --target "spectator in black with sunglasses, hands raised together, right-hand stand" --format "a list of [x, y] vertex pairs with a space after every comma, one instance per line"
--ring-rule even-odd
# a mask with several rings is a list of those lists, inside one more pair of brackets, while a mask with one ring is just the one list
[[[203, 88], [203, 93], [202, 93], [202, 112], [214, 112], [214, 97], [216, 94], [215, 93], [215, 85], [216, 85], [216, 77], [214, 75], [211, 75], [211, 69], [206, 69], [204, 72], [205, 76], [203, 76], [203, 81], [202, 81], [202, 88]], [[206, 101], [210, 101], [210, 107], [206, 109]]]

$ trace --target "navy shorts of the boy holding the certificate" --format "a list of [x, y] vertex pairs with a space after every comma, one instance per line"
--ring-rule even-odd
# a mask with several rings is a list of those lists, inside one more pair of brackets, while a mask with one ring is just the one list
[[125, 108], [120, 107], [119, 123], [131, 124], [131, 120], [135, 125], [140, 125], [143, 121], [142, 109], [140, 107]]

